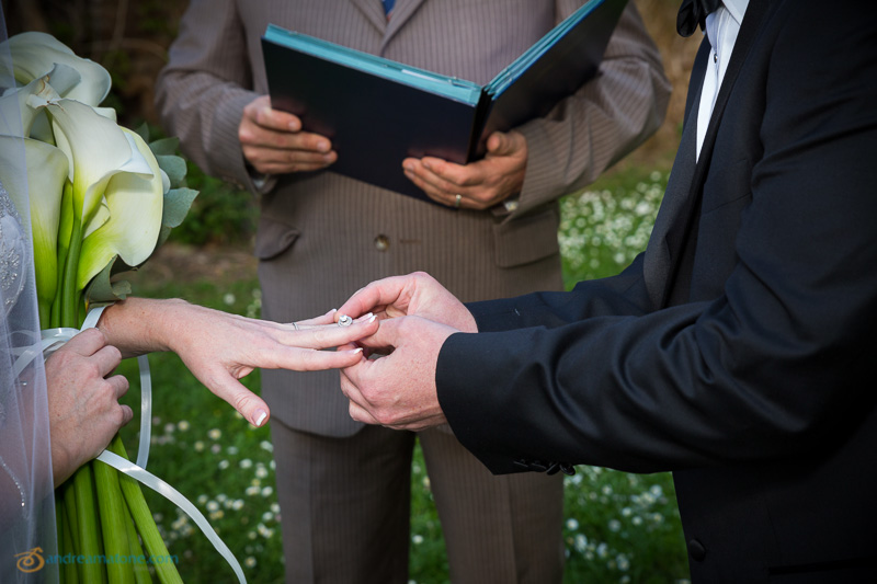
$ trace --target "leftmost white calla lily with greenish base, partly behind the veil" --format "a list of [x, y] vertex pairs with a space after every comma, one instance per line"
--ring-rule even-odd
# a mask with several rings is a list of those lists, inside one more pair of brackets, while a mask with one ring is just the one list
[[67, 157], [58, 148], [39, 140], [0, 136], [0, 168], [16, 169], [22, 162], [26, 174], [3, 173], [3, 186], [20, 211], [24, 205], [30, 210], [39, 321], [47, 324], [49, 308], [58, 290], [58, 224], [67, 180]]

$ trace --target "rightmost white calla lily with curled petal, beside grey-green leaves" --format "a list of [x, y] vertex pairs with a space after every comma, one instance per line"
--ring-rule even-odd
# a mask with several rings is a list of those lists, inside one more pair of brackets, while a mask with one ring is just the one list
[[161, 171], [149, 146], [137, 134], [122, 128], [152, 169], [151, 176], [115, 174], [104, 197], [109, 219], [82, 241], [77, 287], [82, 289], [118, 255], [129, 266], [144, 263], [156, 248], [164, 202]]

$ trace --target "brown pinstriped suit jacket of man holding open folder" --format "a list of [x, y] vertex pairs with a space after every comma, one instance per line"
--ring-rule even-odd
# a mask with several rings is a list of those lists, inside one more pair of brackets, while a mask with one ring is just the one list
[[[556, 199], [657, 129], [669, 98], [658, 50], [631, 2], [599, 76], [547, 117], [517, 128], [529, 159], [511, 214], [443, 208], [330, 171], [272, 178], [257, 188], [237, 128], [244, 105], [267, 93], [260, 36], [269, 23], [486, 83], [582, 3], [398, 0], [387, 22], [378, 0], [193, 0], [159, 79], [158, 104], [186, 156], [262, 195], [255, 254], [263, 316], [309, 318], [373, 279], [418, 270], [467, 301], [560, 289]], [[349, 436], [361, 426], [338, 385], [335, 371], [263, 373], [276, 419]]]

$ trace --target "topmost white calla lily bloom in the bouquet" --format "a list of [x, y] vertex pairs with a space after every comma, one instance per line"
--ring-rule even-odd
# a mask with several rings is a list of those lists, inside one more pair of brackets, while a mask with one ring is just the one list
[[110, 73], [91, 59], [77, 56], [67, 45], [46, 33], [26, 32], [7, 41], [13, 62], [13, 75], [22, 85], [47, 75], [55, 64], [76, 69], [79, 83], [60, 91], [64, 98], [88, 105], [99, 105], [110, 93]]

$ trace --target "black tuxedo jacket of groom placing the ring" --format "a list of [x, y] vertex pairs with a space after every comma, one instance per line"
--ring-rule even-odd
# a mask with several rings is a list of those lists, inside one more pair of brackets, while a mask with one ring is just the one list
[[695, 582], [856, 582], [877, 557], [870, 2], [752, 0], [696, 165], [685, 141], [646, 252], [470, 305], [482, 334], [445, 342], [440, 402], [493, 472], [672, 470]]

